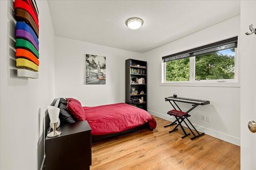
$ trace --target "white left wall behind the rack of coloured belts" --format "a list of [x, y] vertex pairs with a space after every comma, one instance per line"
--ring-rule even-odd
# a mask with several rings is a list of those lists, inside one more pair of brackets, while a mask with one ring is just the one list
[[[47, 1], [39, 8], [39, 79], [16, 77], [12, 1], [1, 4], [0, 169], [38, 169], [43, 156], [42, 117], [54, 99], [54, 33]], [[38, 161], [38, 162], [37, 162]]]

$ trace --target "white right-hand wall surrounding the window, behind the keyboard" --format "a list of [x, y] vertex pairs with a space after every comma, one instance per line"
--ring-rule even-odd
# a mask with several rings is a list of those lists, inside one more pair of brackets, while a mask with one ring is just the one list
[[[164, 102], [174, 92], [179, 96], [209, 100], [210, 105], [199, 106], [191, 112], [191, 120], [198, 130], [228, 142], [240, 144], [240, 88], [239, 87], [190, 87], [160, 86], [161, 57], [190, 48], [216, 42], [240, 34], [240, 16], [236, 16], [143, 54], [148, 61], [148, 111], [169, 119], [166, 112], [172, 107]], [[190, 105], [184, 104], [187, 110]], [[201, 114], [211, 117], [203, 122]], [[169, 119], [170, 120], [170, 119]]]

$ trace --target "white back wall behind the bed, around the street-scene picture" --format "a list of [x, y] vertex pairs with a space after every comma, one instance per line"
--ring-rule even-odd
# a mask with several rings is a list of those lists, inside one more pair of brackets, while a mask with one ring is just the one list
[[[125, 102], [125, 59], [140, 53], [56, 37], [56, 97], [78, 99], [83, 106]], [[106, 56], [106, 84], [84, 85], [86, 54]]]

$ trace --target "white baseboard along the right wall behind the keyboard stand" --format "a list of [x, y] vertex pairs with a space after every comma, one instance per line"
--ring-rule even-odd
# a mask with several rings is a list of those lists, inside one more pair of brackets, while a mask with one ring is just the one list
[[[158, 112], [155, 112], [152, 110], [147, 110], [147, 111], [154, 116], [163, 118], [165, 120], [169, 120], [170, 122], [173, 122], [175, 120], [175, 118], [172, 118], [171, 116], [168, 116], [166, 114], [161, 114], [161, 113], [158, 113]], [[240, 146], [240, 138], [237, 138], [237, 137], [234, 137], [234, 136], [222, 133], [222, 132], [218, 132], [213, 129], [205, 128], [205, 127], [202, 127], [202, 126], [199, 126], [196, 124], [193, 124], [193, 125], [200, 132], [204, 132], [205, 134], [207, 134], [209, 136], [216, 137], [218, 139], [221, 139], [221, 140], [227, 141], [229, 143], [236, 144], [236, 145]], [[183, 126], [185, 126], [185, 125], [183, 125]]]

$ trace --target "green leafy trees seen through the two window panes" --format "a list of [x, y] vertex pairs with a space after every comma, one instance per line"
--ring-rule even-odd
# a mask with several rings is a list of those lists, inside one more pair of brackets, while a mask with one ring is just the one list
[[[234, 49], [196, 56], [195, 80], [234, 79]], [[189, 58], [166, 62], [166, 81], [189, 81]]]

